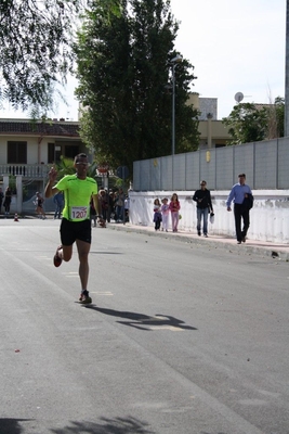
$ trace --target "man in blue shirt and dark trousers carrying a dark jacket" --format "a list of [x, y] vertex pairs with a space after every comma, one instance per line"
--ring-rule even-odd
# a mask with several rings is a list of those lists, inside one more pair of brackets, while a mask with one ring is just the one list
[[[250, 226], [250, 209], [253, 204], [253, 196], [250, 187], [245, 183], [246, 175], [238, 176], [239, 182], [233, 186], [226, 201], [227, 210], [231, 212], [231, 203], [234, 202], [234, 217], [237, 243], [246, 242], [247, 231]], [[242, 230], [241, 230], [242, 219]]]

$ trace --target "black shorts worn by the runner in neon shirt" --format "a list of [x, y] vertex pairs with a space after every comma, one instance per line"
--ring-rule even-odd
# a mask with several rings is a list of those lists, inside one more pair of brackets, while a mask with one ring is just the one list
[[91, 244], [90, 220], [70, 221], [63, 218], [60, 231], [63, 245], [73, 245], [76, 240]]

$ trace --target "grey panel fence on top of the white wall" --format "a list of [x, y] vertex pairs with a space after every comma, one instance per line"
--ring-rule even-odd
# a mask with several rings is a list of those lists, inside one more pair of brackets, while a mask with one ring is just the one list
[[240, 173], [254, 190], [289, 189], [289, 137], [134, 162], [133, 190], [195, 190], [201, 179], [228, 190]]

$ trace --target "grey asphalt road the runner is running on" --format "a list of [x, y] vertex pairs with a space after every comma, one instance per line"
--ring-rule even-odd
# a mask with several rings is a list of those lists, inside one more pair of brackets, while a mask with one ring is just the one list
[[289, 265], [57, 220], [0, 221], [0, 434], [289, 434]]

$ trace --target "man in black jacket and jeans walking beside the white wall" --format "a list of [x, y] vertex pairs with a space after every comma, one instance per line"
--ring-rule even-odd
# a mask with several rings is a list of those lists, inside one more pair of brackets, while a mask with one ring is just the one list
[[200, 237], [201, 233], [201, 216], [202, 216], [202, 233], [203, 237], [208, 237], [208, 214], [213, 213], [213, 206], [211, 201], [211, 193], [206, 188], [207, 182], [200, 182], [200, 190], [197, 190], [193, 196], [193, 201], [197, 203], [197, 231]]

